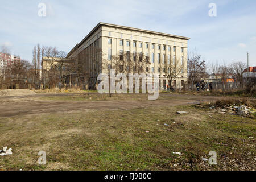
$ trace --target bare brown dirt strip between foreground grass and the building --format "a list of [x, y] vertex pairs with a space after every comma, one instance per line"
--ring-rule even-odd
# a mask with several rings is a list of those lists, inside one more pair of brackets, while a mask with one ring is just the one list
[[[106, 109], [138, 109], [149, 106], [177, 106], [191, 105], [200, 102], [213, 102], [220, 97], [216, 96], [191, 96], [187, 94], [167, 94], [160, 93], [159, 99], [155, 101], [147, 100], [146, 94], [141, 94], [143, 100], [109, 100], [109, 101], [61, 101], [61, 97], [77, 96], [79, 93], [56, 93], [38, 94], [31, 96], [0, 96], [0, 117], [11, 117], [15, 115], [43, 114], [72, 112], [82, 110], [106, 110]], [[93, 95], [99, 95], [93, 93]], [[118, 95], [118, 94], [115, 94]], [[129, 94], [127, 94], [129, 95]], [[51, 100], [51, 97], [59, 97], [59, 100]], [[131, 96], [131, 95], [130, 95]], [[48, 98], [44, 100], [44, 98]], [[141, 97], [135, 95], [135, 98]], [[164, 97], [164, 98], [163, 98]], [[15, 104], [14, 104], [15, 103]]]

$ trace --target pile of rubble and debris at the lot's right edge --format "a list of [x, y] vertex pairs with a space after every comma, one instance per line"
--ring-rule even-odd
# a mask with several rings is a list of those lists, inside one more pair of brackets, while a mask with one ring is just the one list
[[256, 110], [252, 107], [247, 107], [245, 105], [240, 105], [240, 106], [236, 106], [236, 105], [229, 105], [229, 106], [225, 106], [222, 108], [217, 108], [215, 105], [210, 107], [210, 110], [207, 111], [207, 113], [213, 113], [213, 112], [217, 112], [220, 114], [232, 114], [232, 115], [248, 115], [248, 114], [253, 114], [256, 112]]

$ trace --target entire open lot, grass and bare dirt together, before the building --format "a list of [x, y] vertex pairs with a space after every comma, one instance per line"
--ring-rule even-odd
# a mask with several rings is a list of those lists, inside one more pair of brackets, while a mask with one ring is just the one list
[[[0, 156], [0, 171], [253, 170], [256, 114], [209, 112], [209, 102], [219, 99], [173, 93], [159, 93], [155, 101], [147, 94], [0, 96], [0, 150], [13, 152]], [[39, 151], [46, 152], [45, 165], [38, 164]], [[217, 165], [203, 160], [209, 151], [216, 151]]]

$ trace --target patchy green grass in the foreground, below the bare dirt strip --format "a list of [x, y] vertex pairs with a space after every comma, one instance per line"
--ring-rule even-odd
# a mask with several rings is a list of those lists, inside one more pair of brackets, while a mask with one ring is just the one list
[[[188, 114], [176, 114], [180, 110]], [[206, 111], [195, 105], [163, 106], [1, 118], [0, 147], [13, 148], [13, 155], [0, 158], [0, 168], [254, 169], [255, 140], [249, 137], [255, 138], [255, 116]], [[3, 135], [6, 132], [9, 135]], [[46, 151], [46, 166], [36, 164], [39, 150]], [[217, 166], [202, 160], [212, 150], [217, 152]]]

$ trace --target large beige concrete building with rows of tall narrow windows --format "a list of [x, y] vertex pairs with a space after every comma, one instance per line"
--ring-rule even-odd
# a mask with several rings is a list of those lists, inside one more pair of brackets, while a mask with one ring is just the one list
[[[161, 67], [164, 61], [175, 60], [183, 67], [172, 86], [181, 87], [187, 81], [187, 48], [190, 38], [155, 31], [141, 30], [109, 23], [98, 23], [96, 27], [68, 53], [73, 58], [91, 47], [102, 49], [102, 59], [109, 63], [119, 52], [143, 53], [150, 57], [150, 73], [159, 75], [160, 88], [168, 83]], [[164, 61], [163, 61], [164, 60]], [[90, 63], [87, 65], [90, 67]], [[104, 72], [104, 69], [102, 69]]]

